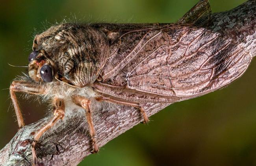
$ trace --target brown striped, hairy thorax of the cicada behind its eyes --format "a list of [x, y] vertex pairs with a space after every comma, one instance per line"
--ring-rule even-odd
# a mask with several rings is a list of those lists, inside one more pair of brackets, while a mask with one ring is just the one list
[[108, 40], [101, 31], [79, 24], [61, 24], [35, 36], [33, 50], [44, 50], [55, 77], [71, 86], [95, 82], [108, 56]]

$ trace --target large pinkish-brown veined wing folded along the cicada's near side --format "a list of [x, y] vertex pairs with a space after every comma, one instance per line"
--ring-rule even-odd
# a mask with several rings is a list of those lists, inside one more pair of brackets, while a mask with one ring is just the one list
[[109, 49], [96, 91], [148, 102], [175, 102], [217, 90], [239, 78], [252, 59], [219, 33], [182, 25], [131, 31]]

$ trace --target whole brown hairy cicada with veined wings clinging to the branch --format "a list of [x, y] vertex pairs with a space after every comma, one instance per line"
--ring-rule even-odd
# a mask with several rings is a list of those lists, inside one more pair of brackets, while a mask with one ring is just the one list
[[28, 57], [29, 76], [10, 86], [20, 128], [24, 120], [15, 92], [41, 95], [53, 106], [54, 117], [35, 131], [33, 163], [36, 142], [65, 117], [67, 100], [84, 109], [97, 152], [92, 99], [135, 107], [148, 122], [142, 102], [191, 99], [243, 75], [252, 60], [249, 51], [223, 34], [184, 20], [180, 24], [65, 23], [36, 35]]

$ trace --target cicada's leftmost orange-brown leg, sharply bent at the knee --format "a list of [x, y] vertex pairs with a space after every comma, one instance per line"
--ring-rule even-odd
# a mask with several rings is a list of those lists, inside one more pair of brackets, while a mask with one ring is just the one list
[[25, 126], [24, 119], [22, 117], [22, 113], [19, 108], [19, 104], [17, 101], [17, 97], [15, 92], [22, 92], [22, 93], [30, 93], [34, 95], [41, 95], [45, 93], [45, 89], [42, 87], [36, 87], [33, 84], [29, 84], [26, 81], [13, 81], [10, 86], [10, 96], [13, 102], [13, 107], [15, 109], [15, 113], [17, 116], [17, 121], [19, 128]]

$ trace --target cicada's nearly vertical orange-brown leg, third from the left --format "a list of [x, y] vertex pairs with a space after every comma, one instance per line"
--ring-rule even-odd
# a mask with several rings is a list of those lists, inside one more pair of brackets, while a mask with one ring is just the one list
[[82, 96], [74, 96], [73, 101], [75, 104], [78, 106], [82, 107], [83, 109], [86, 110], [86, 119], [89, 125], [89, 130], [90, 130], [90, 137], [92, 139], [92, 144], [93, 144], [93, 151], [92, 153], [97, 153], [99, 148], [98, 145], [96, 144], [95, 141], [95, 128], [93, 125], [93, 119], [92, 119], [92, 112], [91, 112], [91, 101], [89, 99], [86, 99], [85, 97]]

